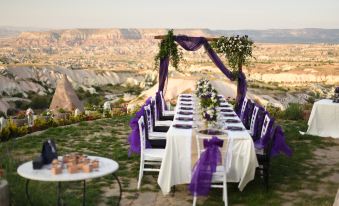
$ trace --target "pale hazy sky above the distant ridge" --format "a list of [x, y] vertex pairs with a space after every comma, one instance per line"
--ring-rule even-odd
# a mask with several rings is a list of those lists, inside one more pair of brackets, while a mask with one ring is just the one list
[[0, 26], [339, 28], [339, 0], [0, 0]]

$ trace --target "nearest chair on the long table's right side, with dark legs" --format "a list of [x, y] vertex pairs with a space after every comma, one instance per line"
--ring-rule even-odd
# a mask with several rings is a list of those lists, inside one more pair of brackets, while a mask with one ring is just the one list
[[254, 142], [255, 151], [259, 163], [258, 172], [264, 181], [266, 190], [268, 190], [271, 150], [275, 137], [274, 131], [275, 131], [274, 118], [271, 118], [266, 112], [262, 129], [260, 132], [260, 139]]

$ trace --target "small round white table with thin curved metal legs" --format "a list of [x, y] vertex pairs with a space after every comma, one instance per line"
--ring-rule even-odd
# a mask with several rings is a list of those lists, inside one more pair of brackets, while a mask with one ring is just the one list
[[122, 189], [121, 184], [118, 177], [114, 174], [119, 169], [119, 164], [111, 159], [104, 158], [104, 157], [97, 157], [97, 156], [88, 156], [91, 160], [98, 160], [99, 161], [99, 168], [97, 170], [93, 170], [90, 173], [78, 172], [74, 174], [68, 173], [66, 168], [63, 168], [61, 174], [53, 175], [50, 168], [51, 165], [44, 165], [42, 169], [34, 170], [32, 161], [26, 162], [20, 165], [17, 169], [17, 172], [20, 176], [24, 177], [26, 180], [26, 196], [30, 203], [33, 205], [28, 193], [28, 184], [30, 180], [36, 181], [43, 181], [43, 182], [57, 182], [57, 205], [61, 205], [60, 199], [60, 188], [61, 182], [71, 182], [71, 181], [83, 181], [84, 188], [83, 188], [83, 201], [82, 204], [85, 205], [86, 203], [86, 180], [94, 179], [98, 177], [103, 177], [109, 174], [112, 174], [113, 177], [117, 180], [120, 189], [119, 201], [118, 205], [120, 204]]

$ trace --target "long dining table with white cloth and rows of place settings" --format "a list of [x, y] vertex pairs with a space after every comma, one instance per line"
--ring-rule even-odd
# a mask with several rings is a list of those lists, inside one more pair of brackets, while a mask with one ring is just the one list
[[[232, 111], [222, 112], [223, 110], [220, 111], [219, 108], [222, 118], [218, 118], [218, 121], [224, 123], [226, 119], [240, 120], [225, 98], [222, 97], [221, 100], [224, 103], [220, 106], [227, 107]], [[191, 107], [193, 110], [191, 112], [183, 110], [185, 107]], [[198, 115], [198, 98], [193, 94], [179, 95], [173, 123], [166, 134], [165, 155], [158, 176], [158, 184], [164, 195], [171, 191], [172, 186], [191, 182], [192, 169], [198, 159], [195, 141], [196, 135], [201, 129], [201, 124], [198, 122], [201, 120]], [[187, 121], [188, 119], [190, 121]], [[192, 128], [180, 128], [175, 125], [192, 125]], [[254, 143], [241, 121], [224, 123], [224, 126], [227, 138], [233, 139], [232, 161], [227, 181], [239, 182], [238, 188], [242, 191], [246, 184], [254, 179], [255, 170], [258, 167]], [[227, 126], [238, 126], [243, 130], [231, 131], [227, 130]]]

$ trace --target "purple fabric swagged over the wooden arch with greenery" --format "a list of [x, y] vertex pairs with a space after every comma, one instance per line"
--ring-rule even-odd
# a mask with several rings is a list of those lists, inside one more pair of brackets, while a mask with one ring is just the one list
[[[237, 90], [237, 105], [238, 102], [246, 96], [247, 92], [247, 84], [246, 84], [246, 77], [243, 72], [240, 72], [237, 77], [233, 75], [233, 73], [225, 67], [222, 63], [218, 55], [212, 49], [211, 45], [208, 43], [206, 38], [204, 37], [188, 37], [183, 35], [175, 36], [175, 41], [183, 47], [187, 51], [196, 51], [204, 46], [208, 56], [213, 61], [213, 63], [220, 69], [220, 71], [225, 74], [227, 78], [231, 81], [235, 81], [238, 79], [238, 90]], [[160, 60], [160, 69], [159, 69], [159, 88], [158, 91], [163, 91], [166, 80], [168, 78], [168, 64], [169, 58], [166, 57]]]

